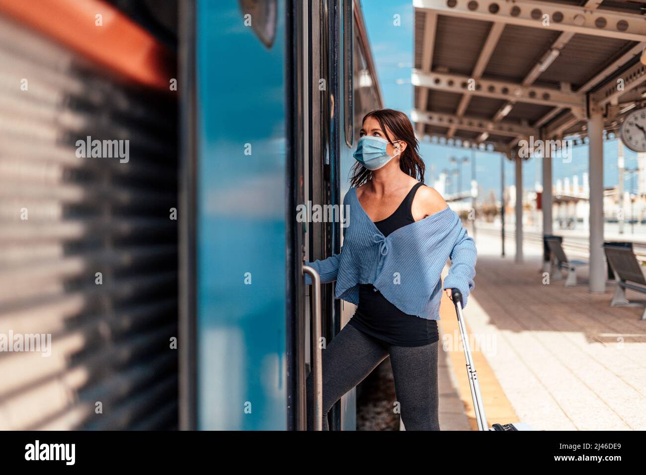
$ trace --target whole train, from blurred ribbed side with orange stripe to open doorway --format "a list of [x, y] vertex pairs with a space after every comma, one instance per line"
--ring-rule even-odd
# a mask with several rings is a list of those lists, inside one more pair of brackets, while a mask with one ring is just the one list
[[359, 0], [0, 0], [0, 58], [0, 343], [51, 341], [0, 352], [0, 429], [304, 430], [354, 308], [297, 210], [383, 107]]

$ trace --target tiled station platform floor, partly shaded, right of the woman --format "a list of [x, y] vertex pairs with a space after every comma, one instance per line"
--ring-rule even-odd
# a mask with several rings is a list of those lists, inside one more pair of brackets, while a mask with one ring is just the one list
[[[512, 239], [505, 258], [492, 233], [479, 233], [476, 243], [475, 289], [464, 313], [489, 424], [645, 430], [643, 309], [611, 308], [612, 282], [605, 293], [590, 293], [587, 268], [579, 269], [576, 287], [565, 288], [563, 280], [543, 284], [539, 242], [525, 243], [520, 264]], [[466, 423], [476, 430], [463, 351], [450, 344], [459, 333], [446, 296], [440, 326], [441, 428], [464, 430]]]

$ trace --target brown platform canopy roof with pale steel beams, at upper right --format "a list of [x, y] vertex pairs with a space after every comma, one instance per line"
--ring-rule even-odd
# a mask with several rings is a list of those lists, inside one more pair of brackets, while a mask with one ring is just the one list
[[[646, 2], [413, 0], [420, 138], [508, 153], [519, 140], [608, 131], [646, 97]], [[459, 142], [457, 142], [459, 140]], [[481, 145], [482, 146], [482, 145]]]

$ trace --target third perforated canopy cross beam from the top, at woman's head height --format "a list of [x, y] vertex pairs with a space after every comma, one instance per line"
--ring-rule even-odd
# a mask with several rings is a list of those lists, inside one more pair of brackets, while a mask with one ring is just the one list
[[[494, 135], [532, 135], [537, 134], [537, 129], [526, 127], [521, 123], [494, 122], [492, 120], [475, 117], [460, 117], [453, 114], [427, 112], [415, 110], [411, 114], [414, 122], [433, 125], [435, 127], [450, 127], [471, 132], [487, 132]], [[450, 138], [450, 137], [448, 137]]]

